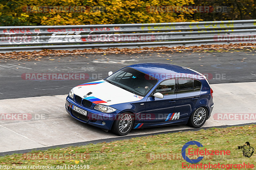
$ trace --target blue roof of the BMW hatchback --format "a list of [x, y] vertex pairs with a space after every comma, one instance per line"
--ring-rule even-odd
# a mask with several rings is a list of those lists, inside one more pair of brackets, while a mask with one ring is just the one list
[[[140, 63], [140, 64], [133, 64], [127, 67], [131, 67], [133, 69], [139, 70], [157, 79], [160, 79], [159, 74], [163, 74], [163, 75], [174, 74], [174, 77], [179, 77], [178, 76], [179, 73], [193, 74], [193, 75], [200, 76], [200, 73], [198, 73], [197, 71], [194, 71], [186, 67], [174, 65], [174, 64], [169, 64], [169, 63]], [[154, 76], [154, 75], [157, 75], [157, 76]], [[161, 77], [161, 79], [163, 79], [163, 77]]]

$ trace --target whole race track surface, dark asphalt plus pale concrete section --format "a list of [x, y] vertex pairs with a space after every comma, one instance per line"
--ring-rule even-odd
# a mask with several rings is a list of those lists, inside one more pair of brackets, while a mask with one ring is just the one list
[[[28, 113], [30, 120], [0, 120], [0, 152], [40, 148], [117, 137], [111, 132], [83, 124], [65, 111], [69, 90], [81, 83], [107, 77], [135, 63], [173, 63], [209, 76], [214, 109], [204, 127], [235, 125], [255, 120], [217, 120], [218, 113], [255, 113], [255, 51], [240, 52], [143, 52], [139, 54], [86, 54], [44, 56], [41, 61], [0, 60], [0, 113]], [[60, 59], [59, 59], [60, 58]], [[49, 60], [51, 59], [51, 60]], [[26, 80], [26, 73], [86, 73], [87, 80]], [[22, 77], [23, 74], [23, 77]], [[243, 82], [243, 83], [242, 83]], [[102, 89], [104, 90], [104, 89]], [[185, 125], [132, 130], [141, 135], [189, 129]]]

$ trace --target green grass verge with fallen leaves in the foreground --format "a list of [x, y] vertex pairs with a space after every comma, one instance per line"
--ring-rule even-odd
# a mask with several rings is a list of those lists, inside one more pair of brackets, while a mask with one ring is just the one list
[[[207, 150], [229, 150], [231, 152], [230, 155], [225, 156], [205, 156], [197, 164], [243, 164], [245, 162], [256, 166], [256, 151], [250, 158], [245, 158], [242, 151], [237, 149], [237, 146], [243, 145], [247, 141], [256, 149], [255, 139], [256, 125], [210, 128], [200, 131], [137, 137], [110, 143], [34, 151], [27, 154], [13, 154], [0, 157], [0, 163], [2, 166], [12, 166], [13, 164], [66, 165], [66, 167], [68, 165], [69, 167], [71, 165], [89, 165], [90, 169], [181, 169], [182, 162], [187, 163], [188, 166], [191, 165], [181, 157], [181, 148], [185, 143], [193, 140], [203, 144], [204, 147], [200, 147], [200, 150], [206, 148]], [[196, 149], [197, 147], [191, 145], [189, 148]], [[150, 158], [150, 154], [157, 156], [168, 154], [169, 157], [155, 159], [155, 156]]]

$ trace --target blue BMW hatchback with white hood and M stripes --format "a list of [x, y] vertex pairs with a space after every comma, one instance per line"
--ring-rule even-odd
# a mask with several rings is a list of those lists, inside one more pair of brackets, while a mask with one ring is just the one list
[[132, 129], [204, 125], [213, 109], [206, 77], [167, 63], [140, 63], [108, 73], [108, 78], [70, 90], [66, 111], [73, 118], [117, 135]]

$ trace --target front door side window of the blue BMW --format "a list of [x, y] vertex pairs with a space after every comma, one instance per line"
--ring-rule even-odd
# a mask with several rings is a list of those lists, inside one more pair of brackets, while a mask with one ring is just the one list
[[174, 94], [175, 79], [165, 80], [156, 88], [156, 92], [160, 92], [163, 95]]

